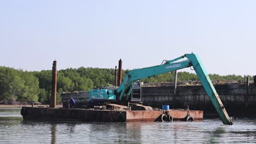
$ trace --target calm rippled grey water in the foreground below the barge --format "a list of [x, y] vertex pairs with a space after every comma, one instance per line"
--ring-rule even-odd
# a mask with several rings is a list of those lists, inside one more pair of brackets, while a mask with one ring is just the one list
[[256, 119], [233, 122], [32, 122], [20, 109], [2, 109], [0, 143], [256, 143]]

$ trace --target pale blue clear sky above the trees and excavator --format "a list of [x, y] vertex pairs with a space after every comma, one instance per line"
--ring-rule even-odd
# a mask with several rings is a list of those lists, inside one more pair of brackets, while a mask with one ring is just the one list
[[[256, 75], [256, 1], [0, 0], [0, 66], [161, 64], [196, 53], [210, 74]], [[189, 68], [179, 70], [194, 73]]]

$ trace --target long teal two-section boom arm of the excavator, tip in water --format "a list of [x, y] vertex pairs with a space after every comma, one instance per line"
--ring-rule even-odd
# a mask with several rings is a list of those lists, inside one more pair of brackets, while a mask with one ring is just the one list
[[[188, 58], [187, 61], [176, 62], [184, 57]], [[203, 67], [199, 56], [195, 55], [194, 53], [185, 54], [184, 56], [172, 59], [170, 61], [166, 61], [164, 64], [156, 65], [154, 67], [129, 71], [129, 73], [126, 74], [123, 82], [117, 89], [117, 93], [120, 94], [119, 100], [122, 100], [124, 96], [126, 96], [126, 100], [130, 97], [132, 83], [139, 79], [153, 77], [156, 75], [167, 73], [169, 71], [188, 68], [191, 66], [193, 66], [197, 76], [199, 77], [199, 80], [202, 83], [203, 88], [205, 88], [207, 95], [210, 97], [215, 109], [219, 113], [220, 119], [222, 119], [223, 124], [232, 125], [231, 119], [229, 118], [229, 115], [226, 112], [225, 107], [222, 104], [222, 101], [220, 100], [219, 95], [210, 80], [210, 77], [208, 76], [205, 68]]]

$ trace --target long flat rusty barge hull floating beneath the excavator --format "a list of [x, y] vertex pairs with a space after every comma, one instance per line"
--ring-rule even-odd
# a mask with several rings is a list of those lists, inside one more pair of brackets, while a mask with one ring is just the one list
[[84, 121], [84, 122], [146, 122], [159, 121], [163, 113], [169, 113], [173, 121], [184, 121], [189, 114], [195, 121], [202, 121], [203, 111], [192, 110], [91, 110], [49, 107], [22, 107], [24, 120]]

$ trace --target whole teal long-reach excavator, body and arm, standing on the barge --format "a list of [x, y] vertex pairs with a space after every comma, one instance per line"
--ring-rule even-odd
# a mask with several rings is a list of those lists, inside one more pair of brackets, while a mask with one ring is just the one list
[[[184, 60], [179, 61], [181, 59]], [[121, 104], [121, 102], [129, 101], [133, 85], [136, 81], [146, 77], [153, 77], [156, 75], [168, 73], [170, 71], [189, 67], [193, 67], [193, 69], [195, 70], [197, 76], [199, 77], [199, 80], [202, 83], [203, 88], [205, 88], [205, 91], [210, 97], [212, 104], [217, 110], [223, 124], [232, 125], [233, 123], [228, 113], [226, 112], [225, 107], [210, 80], [210, 77], [208, 76], [205, 68], [203, 67], [199, 56], [194, 53], [185, 54], [170, 61], [163, 61], [162, 64], [153, 67], [130, 70], [125, 75], [123, 82], [117, 89], [91, 89], [89, 93], [89, 100], [105, 102], [115, 101], [115, 103]]]

